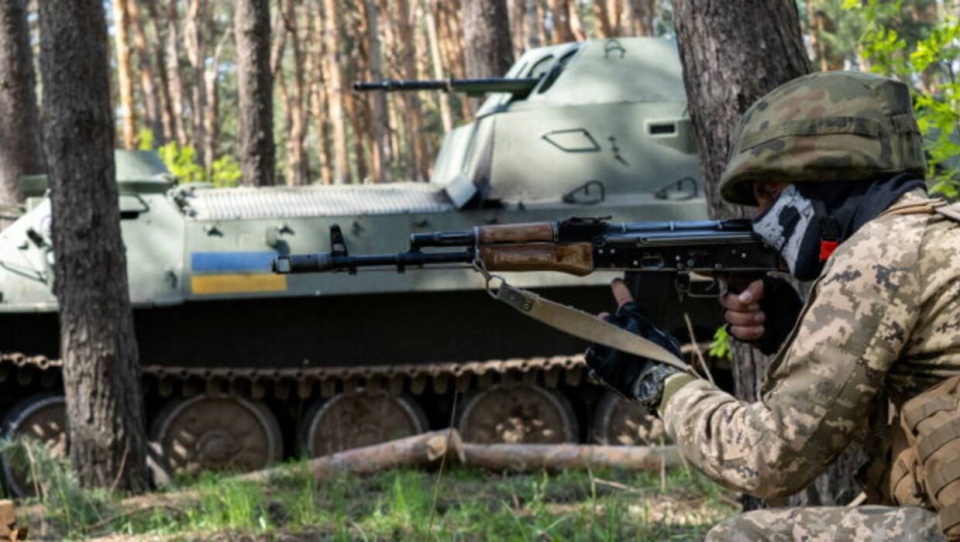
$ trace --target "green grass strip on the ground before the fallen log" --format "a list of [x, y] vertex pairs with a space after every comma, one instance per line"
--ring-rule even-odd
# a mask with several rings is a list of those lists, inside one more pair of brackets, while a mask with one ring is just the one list
[[661, 478], [456, 467], [318, 482], [293, 463], [269, 484], [205, 475], [174, 488], [198, 495], [189, 506], [165, 504], [160, 493], [121, 513], [118, 497], [79, 489], [62, 462], [37, 471], [45, 488], [62, 489], [37, 501], [41, 513], [24, 517], [29, 503], [18, 505], [34, 540], [702, 540], [739, 509], [733, 494], [683, 469]]

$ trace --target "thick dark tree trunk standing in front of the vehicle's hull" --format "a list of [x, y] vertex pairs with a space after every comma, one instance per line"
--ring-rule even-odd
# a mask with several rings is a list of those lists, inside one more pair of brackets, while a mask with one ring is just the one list
[[120, 237], [103, 3], [40, 2], [40, 28], [70, 458], [85, 486], [141, 491], [143, 399]]

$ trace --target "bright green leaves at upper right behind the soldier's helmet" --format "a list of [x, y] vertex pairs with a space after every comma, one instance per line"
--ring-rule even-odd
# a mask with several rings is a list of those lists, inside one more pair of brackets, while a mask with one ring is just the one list
[[871, 71], [912, 83], [933, 191], [960, 198], [960, 82], [953, 69], [960, 60], [960, 20], [948, 15], [908, 37], [890, 24], [904, 13], [902, 1], [869, 0], [864, 6], [845, 0], [844, 8], [862, 10], [867, 21], [861, 43]]

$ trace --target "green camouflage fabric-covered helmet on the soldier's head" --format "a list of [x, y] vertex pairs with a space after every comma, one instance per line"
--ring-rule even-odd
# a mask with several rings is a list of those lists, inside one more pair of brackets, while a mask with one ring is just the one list
[[887, 77], [822, 72], [757, 100], [734, 130], [720, 195], [756, 205], [756, 180], [865, 181], [926, 171], [910, 91]]

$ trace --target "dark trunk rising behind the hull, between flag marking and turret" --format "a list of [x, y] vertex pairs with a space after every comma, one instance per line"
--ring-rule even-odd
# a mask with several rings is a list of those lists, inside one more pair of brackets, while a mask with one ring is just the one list
[[270, 75], [270, 2], [236, 0], [237, 93], [240, 97], [240, 171], [247, 186], [274, 184], [273, 86]]

